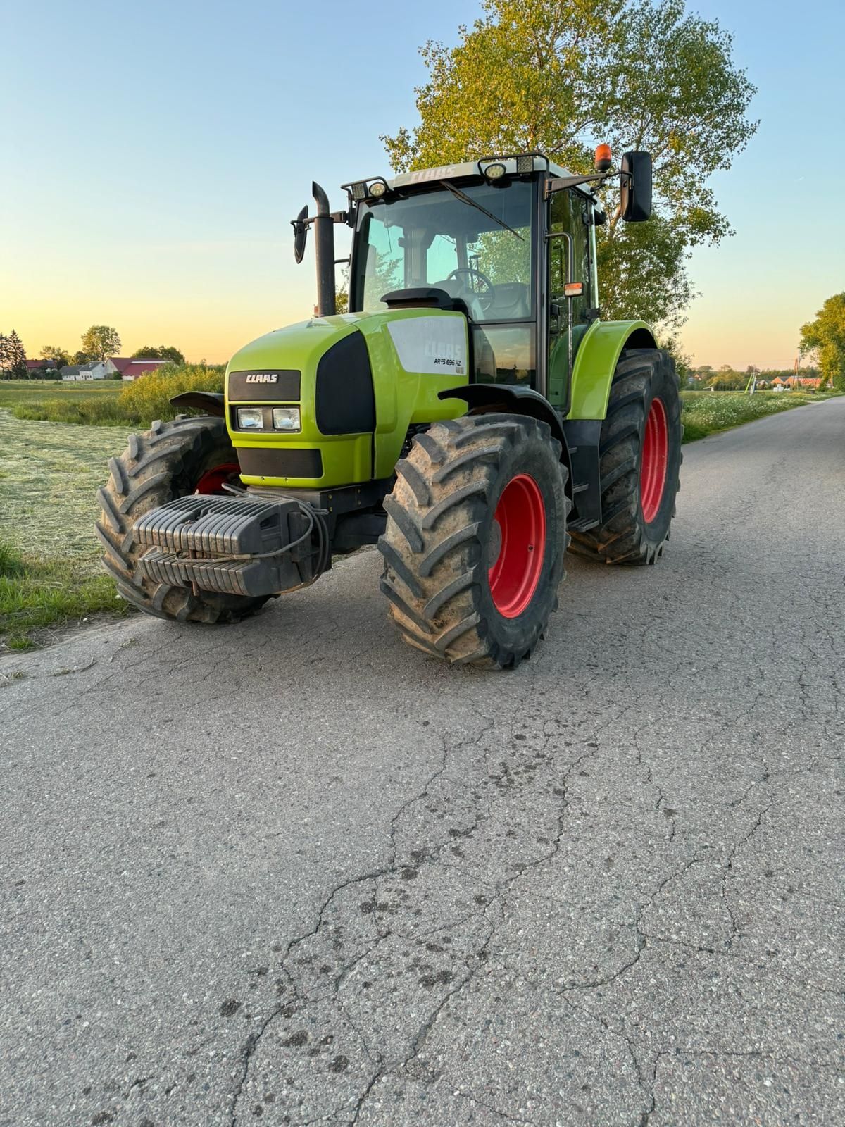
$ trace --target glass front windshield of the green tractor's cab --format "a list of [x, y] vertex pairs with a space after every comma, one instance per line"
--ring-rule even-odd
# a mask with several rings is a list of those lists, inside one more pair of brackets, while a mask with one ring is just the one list
[[361, 205], [352, 309], [373, 312], [392, 290], [436, 286], [461, 298], [475, 322], [533, 318], [535, 185], [459, 190], [483, 211], [446, 188]]

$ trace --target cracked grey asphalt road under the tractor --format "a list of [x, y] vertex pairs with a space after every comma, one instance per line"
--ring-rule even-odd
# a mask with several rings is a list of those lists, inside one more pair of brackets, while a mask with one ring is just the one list
[[845, 1122], [844, 559], [836, 399], [686, 447], [515, 673], [375, 552], [5, 659], [0, 1124]]

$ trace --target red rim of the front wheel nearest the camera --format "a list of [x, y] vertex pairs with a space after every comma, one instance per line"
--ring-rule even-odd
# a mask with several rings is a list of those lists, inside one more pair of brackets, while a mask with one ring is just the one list
[[499, 614], [515, 619], [534, 597], [545, 554], [545, 505], [534, 478], [519, 473], [508, 481], [493, 513], [492, 532], [501, 547], [487, 573], [490, 594]]

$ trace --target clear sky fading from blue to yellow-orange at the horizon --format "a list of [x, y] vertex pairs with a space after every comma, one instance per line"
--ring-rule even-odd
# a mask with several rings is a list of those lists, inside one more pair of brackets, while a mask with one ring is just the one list
[[[845, 290], [845, 6], [687, 7], [733, 34], [760, 126], [712, 179], [736, 234], [693, 254], [682, 344], [696, 364], [789, 367], [800, 326]], [[105, 323], [124, 354], [224, 362], [309, 316], [313, 250], [294, 265], [290, 220], [311, 180], [339, 208], [341, 183], [390, 174], [380, 134], [417, 121], [419, 46], [455, 43], [479, 11], [0, 0], [0, 331], [37, 356]]]

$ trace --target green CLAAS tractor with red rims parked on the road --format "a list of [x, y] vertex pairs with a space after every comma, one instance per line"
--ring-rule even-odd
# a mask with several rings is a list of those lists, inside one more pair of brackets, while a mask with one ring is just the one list
[[[572, 176], [541, 153], [344, 185], [314, 231], [318, 305], [237, 353], [225, 393], [172, 402], [109, 463], [97, 529], [124, 598], [234, 622], [377, 544], [402, 637], [454, 664], [516, 666], [558, 605], [567, 548], [653, 564], [681, 465], [671, 358], [603, 321], [590, 187], [647, 220], [651, 158]], [[336, 313], [335, 225], [352, 228]], [[346, 261], [346, 259], [343, 259]], [[571, 539], [571, 544], [570, 544]]]

